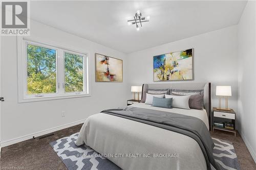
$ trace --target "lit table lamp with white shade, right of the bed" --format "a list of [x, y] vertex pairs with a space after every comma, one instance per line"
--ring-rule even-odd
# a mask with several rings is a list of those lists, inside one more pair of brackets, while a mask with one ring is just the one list
[[[231, 109], [228, 109], [228, 96], [231, 96], [231, 86], [216, 86], [216, 95], [219, 96], [219, 108], [218, 110], [226, 110], [230, 111]], [[221, 98], [226, 99], [226, 107], [221, 108]]]

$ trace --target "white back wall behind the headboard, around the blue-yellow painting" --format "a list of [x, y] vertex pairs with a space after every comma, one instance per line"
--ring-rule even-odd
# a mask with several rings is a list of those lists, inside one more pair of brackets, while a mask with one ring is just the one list
[[[152, 41], [154, 41], [154, 39]], [[237, 26], [170, 42], [129, 54], [127, 57], [127, 65], [129, 65], [127, 68], [127, 80], [129, 86], [127, 88], [133, 84], [154, 83], [153, 56], [185, 50], [191, 47], [194, 48], [194, 81], [192, 82], [212, 83], [212, 106], [214, 107], [218, 106], [218, 98], [214, 95], [215, 86], [231, 85], [232, 97], [229, 99], [229, 106], [237, 111]]]

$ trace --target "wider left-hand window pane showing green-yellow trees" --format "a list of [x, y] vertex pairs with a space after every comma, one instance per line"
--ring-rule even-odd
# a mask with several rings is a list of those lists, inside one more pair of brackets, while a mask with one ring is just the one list
[[27, 44], [27, 56], [27, 93], [56, 93], [56, 50]]

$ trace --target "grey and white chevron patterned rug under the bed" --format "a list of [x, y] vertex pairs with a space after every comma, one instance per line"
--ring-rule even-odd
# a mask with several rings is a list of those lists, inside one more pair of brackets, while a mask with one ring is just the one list
[[[73, 169], [99, 169], [99, 170], [115, 170], [121, 169], [110, 160], [102, 157], [96, 151], [82, 145], [77, 147], [75, 141], [78, 133], [68, 137], [50, 142], [53, 150], [60, 157], [62, 162], [69, 170]], [[216, 162], [223, 169], [240, 170], [238, 158], [231, 142], [212, 138], [215, 143], [214, 157]]]

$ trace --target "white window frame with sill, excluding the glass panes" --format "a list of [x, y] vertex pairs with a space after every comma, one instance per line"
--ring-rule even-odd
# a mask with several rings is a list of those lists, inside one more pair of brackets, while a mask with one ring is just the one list
[[[27, 94], [27, 44], [56, 50], [56, 93]], [[91, 96], [90, 53], [83, 50], [77, 50], [74, 47], [66, 47], [55, 44], [39, 38], [27, 38], [22, 36], [17, 37], [19, 103]], [[65, 52], [83, 56], [83, 91], [65, 92]]]

